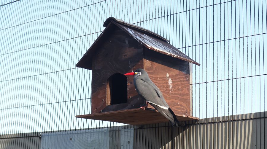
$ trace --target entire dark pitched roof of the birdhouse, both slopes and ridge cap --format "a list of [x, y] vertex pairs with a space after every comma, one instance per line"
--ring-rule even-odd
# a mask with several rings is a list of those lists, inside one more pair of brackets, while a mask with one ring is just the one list
[[[131, 37], [133, 37], [135, 40], [140, 42], [143, 46], [146, 48], [156, 51], [158, 53], [162, 53], [174, 58], [178, 58], [181, 60], [185, 60], [190, 63], [194, 63], [198, 66], [200, 66], [199, 63], [197, 63], [192, 58], [188, 57], [181, 51], [179, 51], [177, 48], [172, 46], [166, 38], [150, 31], [147, 29], [144, 29], [142, 27], [136, 26], [134, 24], [130, 24], [127, 22], [124, 22], [123, 20], [116, 19], [114, 17], [109, 17], [104, 22], [104, 27], [106, 27], [103, 32], [98, 36], [96, 41], [92, 44], [92, 46], [87, 50], [87, 52], [83, 55], [83, 57], [80, 59], [80, 61], [76, 64], [77, 67], [90, 69], [92, 70], [92, 56], [95, 54], [97, 50], [97, 46], [101, 45], [101, 41], [105, 37], [108, 36], [109, 33], [112, 32], [112, 29], [114, 29], [114, 25], [119, 27], [121, 30], [128, 33]], [[113, 27], [112, 27], [113, 26]]]

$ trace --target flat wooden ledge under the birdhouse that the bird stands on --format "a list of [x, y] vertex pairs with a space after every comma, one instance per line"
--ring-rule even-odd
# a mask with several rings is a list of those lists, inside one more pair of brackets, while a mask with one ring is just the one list
[[[110, 122], [119, 122], [130, 125], [145, 125], [153, 123], [169, 122], [163, 115], [155, 109], [126, 109], [112, 112], [103, 112], [96, 114], [77, 115], [78, 118], [96, 119]], [[198, 120], [197, 117], [187, 115], [176, 115], [179, 121]]]

